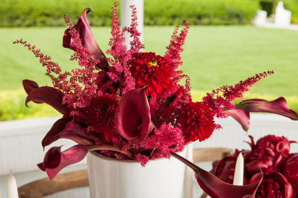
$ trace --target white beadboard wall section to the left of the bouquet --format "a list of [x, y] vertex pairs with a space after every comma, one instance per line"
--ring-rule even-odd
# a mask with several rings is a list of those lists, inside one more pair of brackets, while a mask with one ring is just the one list
[[[71, 140], [61, 139], [47, 146], [43, 151], [41, 140], [60, 117], [36, 118], [0, 122], [0, 175], [38, 170], [36, 164], [44, 159], [52, 146], [61, 150], [75, 145]], [[86, 164], [86, 159], [77, 163]]]

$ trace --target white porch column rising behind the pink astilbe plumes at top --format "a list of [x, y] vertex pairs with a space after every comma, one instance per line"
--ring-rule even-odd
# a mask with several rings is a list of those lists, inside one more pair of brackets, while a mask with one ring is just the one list
[[[121, 27], [129, 27], [131, 24], [131, 8], [130, 5], [135, 5], [136, 16], [138, 18], [138, 31], [141, 33], [140, 41], [143, 43], [144, 30], [144, 0], [121, 0], [120, 25]], [[125, 45], [130, 47], [131, 37], [128, 32], [124, 33]]]

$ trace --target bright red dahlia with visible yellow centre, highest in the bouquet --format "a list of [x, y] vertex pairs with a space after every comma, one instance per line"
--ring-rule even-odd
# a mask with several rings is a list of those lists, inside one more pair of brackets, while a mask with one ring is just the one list
[[171, 90], [172, 68], [167, 59], [152, 52], [139, 53], [131, 64], [131, 75], [136, 79], [136, 88], [145, 88], [147, 96], [160, 95], [161, 92]]

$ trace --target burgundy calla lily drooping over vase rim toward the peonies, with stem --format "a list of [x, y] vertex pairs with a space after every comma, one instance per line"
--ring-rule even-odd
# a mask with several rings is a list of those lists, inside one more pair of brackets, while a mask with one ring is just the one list
[[171, 152], [171, 156], [179, 159], [184, 164], [193, 169], [193, 171], [195, 172], [195, 178], [201, 189], [213, 198], [254, 198], [257, 188], [259, 187], [263, 179], [262, 172], [259, 180], [257, 180], [256, 182], [249, 185], [236, 186], [221, 181], [210, 172], [201, 169], [200, 167], [196, 166], [195, 164], [191, 163], [187, 159], [184, 159], [176, 153]]

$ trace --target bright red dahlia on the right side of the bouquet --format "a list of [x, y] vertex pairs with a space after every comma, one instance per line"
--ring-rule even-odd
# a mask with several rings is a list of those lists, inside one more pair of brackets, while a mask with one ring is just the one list
[[189, 102], [181, 110], [180, 124], [186, 142], [208, 139], [216, 124], [210, 108], [200, 102]]

